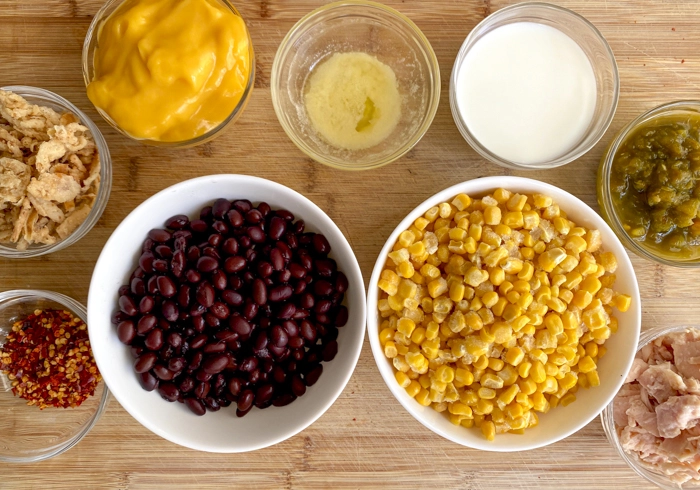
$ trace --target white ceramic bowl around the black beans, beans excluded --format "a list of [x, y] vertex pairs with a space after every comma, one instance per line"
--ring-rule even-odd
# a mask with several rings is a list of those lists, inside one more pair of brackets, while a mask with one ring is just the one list
[[[117, 307], [117, 291], [137, 265], [141, 244], [152, 228], [163, 227], [170, 216], [199, 213], [216, 198], [265, 201], [284, 208], [306, 222], [307, 230], [323, 233], [331, 244], [330, 256], [349, 280], [348, 323], [340, 329], [338, 355], [324, 363], [319, 381], [286, 407], [253, 409], [243, 418], [235, 405], [193, 415], [183, 404], [168, 403], [157, 391], [141, 388], [129, 348], [117, 338], [110, 317]], [[297, 192], [246, 175], [211, 175], [169, 187], [137, 207], [107, 241], [90, 284], [88, 329], [95, 360], [114, 397], [136, 420], [159, 436], [201, 451], [236, 453], [271, 446], [302, 431], [338, 398], [360, 356], [365, 331], [365, 289], [362, 273], [347, 240], [331, 219]]]

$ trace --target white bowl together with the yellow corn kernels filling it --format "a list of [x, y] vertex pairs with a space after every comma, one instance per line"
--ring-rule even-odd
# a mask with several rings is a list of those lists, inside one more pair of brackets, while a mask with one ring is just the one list
[[490, 451], [559, 441], [613, 399], [641, 327], [629, 257], [598, 214], [532, 179], [487, 177], [416, 207], [367, 299], [384, 381], [433, 432]]

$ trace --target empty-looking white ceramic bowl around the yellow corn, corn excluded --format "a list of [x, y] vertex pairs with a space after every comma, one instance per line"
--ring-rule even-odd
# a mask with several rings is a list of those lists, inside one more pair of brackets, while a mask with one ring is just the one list
[[[377, 282], [379, 281], [379, 275], [384, 267], [387, 254], [391, 251], [394, 243], [396, 243], [399, 233], [406, 230], [416, 218], [422, 216], [425, 211], [441, 202], [451, 201], [455, 195], [462, 192], [472, 197], [481, 197], [499, 187], [514, 192], [548, 195], [559, 204], [571, 220], [579, 225], [600, 230], [603, 236], [603, 248], [613, 252], [618, 260], [618, 269], [615, 272], [617, 275], [615, 289], [632, 296], [632, 306], [626, 313], [616, 312], [615, 314], [619, 321], [619, 329], [605, 343], [608, 354], [600, 360], [598, 365], [601, 378], [600, 386], [588, 390], [579, 390], [576, 394], [577, 400], [574, 403], [567, 407], [557, 407], [547, 414], [540, 415], [539, 425], [532, 429], [527, 429], [524, 435], [499, 434], [496, 436], [495, 441], [489, 442], [481, 435], [481, 431], [457, 427], [448, 420], [445, 414], [418, 404], [398, 385], [394, 378], [394, 368], [384, 355], [379, 343], [379, 325], [377, 321], [377, 297], [379, 290]], [[401, 405], [421, 424], [446, 439], [467, 447], [499, 452], [524, 451], [552, 444], [573, 434], [593, 420], [613, 399], [632, 365], [632, 360], [637, 351], [642, 317], [639, 287], [632, 263], [624, 247], [605, 221], [588, 205], [568, 192], [537, 180], [521, 177], [486, 177], [462, 182], [438, 192], [411, 211], [389, 236], [379, 254], [369, 281], [367, 312], [367, 334], [369, 335], [374, 359], [379, 367], [379, 372], [384, 378], [384, 382]]]

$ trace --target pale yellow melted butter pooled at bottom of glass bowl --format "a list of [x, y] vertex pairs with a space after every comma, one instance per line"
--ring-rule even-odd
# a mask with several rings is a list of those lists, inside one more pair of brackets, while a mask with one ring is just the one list
[[314, 129], [331, 145], [364, 150], [384, 141], [401, 118], [394, 71], [366, 53], [336, 53], [307, 81], [304, 104]]

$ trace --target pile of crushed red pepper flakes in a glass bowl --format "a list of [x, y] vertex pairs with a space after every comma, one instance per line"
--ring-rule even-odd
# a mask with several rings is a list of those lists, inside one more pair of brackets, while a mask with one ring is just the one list
[[0, 364], [12, 392], [40, 409], [78, 407], [102, 381], [87, 325], [65, 310], [36, 310], [16, 321]]

